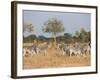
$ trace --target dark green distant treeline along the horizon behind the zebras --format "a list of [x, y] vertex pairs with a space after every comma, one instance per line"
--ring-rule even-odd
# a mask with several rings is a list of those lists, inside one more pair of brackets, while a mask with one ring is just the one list
[[[23, 42], [33, 42], [34, 40], [37, 41], [50, 41], [53, 42], [53, 37], [45, 37], [43, 35], [36, 36], [36, 35], [29, 35], [27, 37], [23, 37]], [[56, 37], [57, 42], [63, 41], [66, 43], [71, 42], [90, 42], [91, 41], [91, 34], [90, 32], [86, 32], [85, 30], [81, 30], [80, 32], [76, 32], [75, 35], [72, 35], [70, 33], [64, 33], [62, 36]]]

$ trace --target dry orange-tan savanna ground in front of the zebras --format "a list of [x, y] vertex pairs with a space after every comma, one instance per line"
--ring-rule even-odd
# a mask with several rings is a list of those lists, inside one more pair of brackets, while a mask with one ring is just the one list
[[56, 50], [53, 46], [48, 49], [47, 54], [26, 55], [23, 57], [23, 69], [33, 68], [53, 68], [53, 67], [81, 67], [90, 66], [90, 55], [68, 56], [63, 55], [61, 50]]

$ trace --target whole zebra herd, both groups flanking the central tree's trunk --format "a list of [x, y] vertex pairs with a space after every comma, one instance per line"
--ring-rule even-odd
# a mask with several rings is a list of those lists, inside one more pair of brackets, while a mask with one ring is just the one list
[[[48, 53], [53, 46], [52, 43], [43, 42], [41, 44], [33, 44], [30, 47], [23, 48], [23, 55], [26, 54], [39, 55], [44, 54], [44, 56]], [[91, 46], [90, 43], [56, 43], [55, 50], [57, 52], [61, 51], [60, 54], [68, 55], [68, 56], [86, 56], [90, 54]]]

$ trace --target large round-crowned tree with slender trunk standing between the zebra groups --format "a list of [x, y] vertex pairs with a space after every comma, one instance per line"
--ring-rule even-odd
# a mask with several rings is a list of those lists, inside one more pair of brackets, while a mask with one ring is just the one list
[[56, 36], [58, 33], [64, 31], [64, 26], [62, 24], [62, 21], [56, 18], [51, 18], [44, 23], [43, 31], [47, 33], [51, 33], [52, 37], [54, 38], [54, 44], [56, 44]]

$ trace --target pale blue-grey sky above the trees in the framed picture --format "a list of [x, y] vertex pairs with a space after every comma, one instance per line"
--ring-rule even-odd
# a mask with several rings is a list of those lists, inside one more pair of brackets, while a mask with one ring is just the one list
[[24, 10], [23, 22], [32, 23], [34, 26], [34, 32], [33, 33], [24, 32], [24, 36], [35, 34], [37, 36], [43, 35], [46, 37], [51, 37], [51, 34], [44, 33], [42, 31], [43, 24], [50, 18], [57, 18], [58, 20], [62, 21], [65, 28], [64, 33], [74, 34], [75, 31], [79, 31], [81, 28], [84, 28], [86, 31], [91, 30], [90, 13]]

